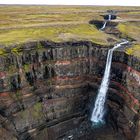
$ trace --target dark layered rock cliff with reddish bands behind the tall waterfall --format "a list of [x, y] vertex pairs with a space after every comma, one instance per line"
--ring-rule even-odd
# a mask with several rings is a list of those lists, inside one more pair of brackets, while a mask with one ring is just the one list
[[[14, 49], [13, 49], [14, 50]], [[91, 110], [108, 48], [91, 42], [29, 43], [0, 57], [1, 137], [82, 139], [94, 135]], [[8, 54], [8, 55], [7, 55]], [[140, 60], [113, 54], [106, 122], [134, 139], [140, 109]]]

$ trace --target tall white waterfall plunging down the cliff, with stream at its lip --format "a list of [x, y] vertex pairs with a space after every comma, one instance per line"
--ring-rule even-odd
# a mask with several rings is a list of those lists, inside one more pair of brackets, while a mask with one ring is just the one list
[[106, 101], [106, 94], [107, 94], [107, 90], [109, 86], [109, 76], [110, 76], [113, 51], [124, 44], [128, 44], [128, 41], [125, 40], [121, 43], [118, 43], [114, 45], [112, 49], [108, 51], [104, 76], [103, 76], [102, 83], [98, 91], [98, 95], [95, 101], [95, 106], [94, 106], [92, 116], [91, 116], [91, 121], [95, 124], [98, 122], [101, 122], [101, 123], [103, 122], [103, 116], [105, 113], [104, 104]]

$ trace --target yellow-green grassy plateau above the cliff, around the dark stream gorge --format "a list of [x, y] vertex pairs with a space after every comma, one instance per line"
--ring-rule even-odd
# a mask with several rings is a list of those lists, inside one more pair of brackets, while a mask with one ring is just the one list
[[[102, 20], [107, 10], [117, 10], [118, 29], [140, 44], [140, 7], [93, 6], [0, 6], [0, 44], [9, 46], [23, 42], [52, 40], [90, 40], [113, 44], [113, 36], [97, 30], [90, 20]], [[138, 50], [139, 47], [136, 47]], [[139, 54], [138, 54], [139, 55]]]

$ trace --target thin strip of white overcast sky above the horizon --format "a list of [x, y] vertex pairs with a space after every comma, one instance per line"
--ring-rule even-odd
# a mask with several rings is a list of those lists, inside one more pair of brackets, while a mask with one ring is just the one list
[[140, 0], [0, 0], [0, 4], [140, 6]]

